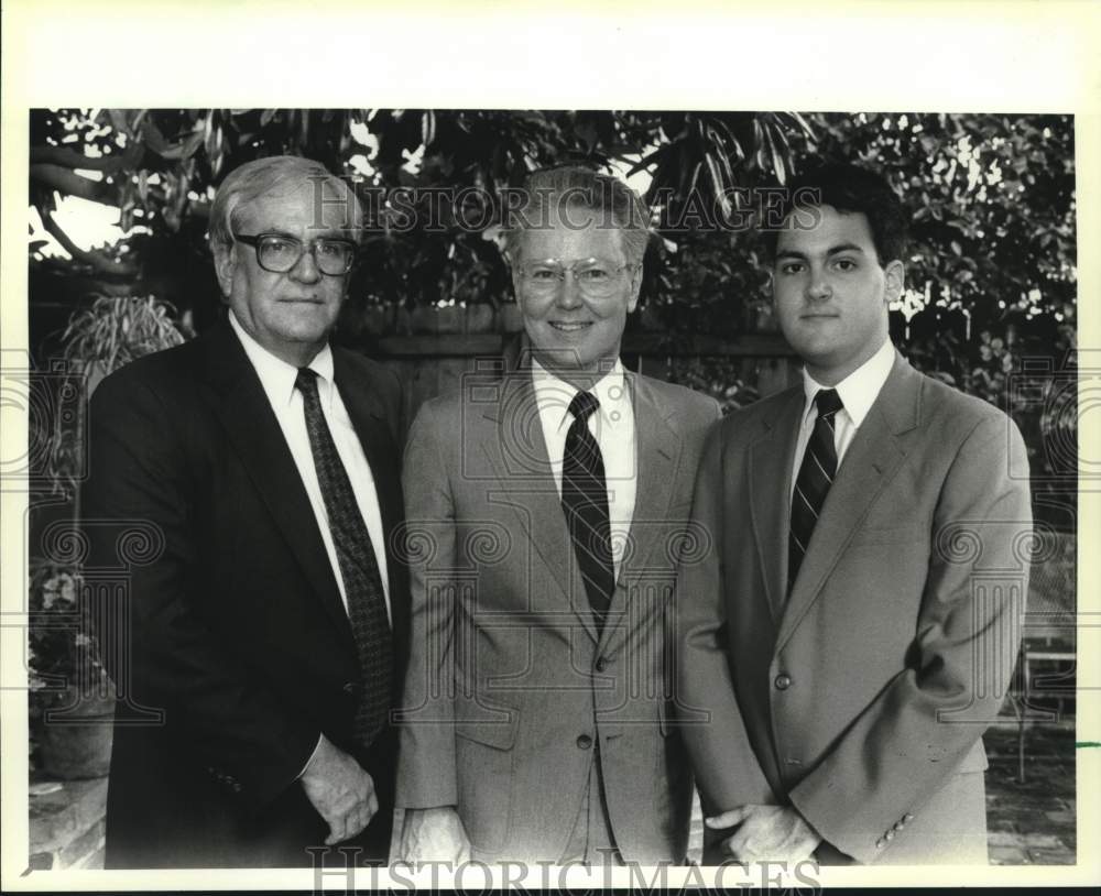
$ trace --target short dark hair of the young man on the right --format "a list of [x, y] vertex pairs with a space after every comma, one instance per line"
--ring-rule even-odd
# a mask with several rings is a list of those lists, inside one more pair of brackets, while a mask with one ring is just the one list
[[[788, 185], [777, 220], [786, 220], [796, 208], [808, 206], [832, 206], [846, 214], [862, 212], [868, 218], [880, 265], [903, 258], [909, 216], [882, 175], [850, 164], [820, 165], [807, 171]], [[763, 231], [773, 259], [781, 229]]]

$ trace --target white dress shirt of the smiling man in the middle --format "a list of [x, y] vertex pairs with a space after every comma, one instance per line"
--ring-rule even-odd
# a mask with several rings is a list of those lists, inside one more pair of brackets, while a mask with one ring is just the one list
[[[562, 499], [562, 462], [566, 454], [566, 435], [574, 424], [569, 403], [580, 391], [563, 382], [532, 362], [532, 382], [535, 401], [543, 424], [543, 438], [547, 445], [550, 470], [554, 473], [558, 498]], [[600, 446], [604, 461], [604, 483], [608, 488], [608, 517], [612, 539], [612, 565], [619, 579], [626, 539], [631, 534], [634, 516], [635, 492], [639, 484], [639, 466], [635, 454], [634, 404], [628, 393], [623, 364], [615, 365], [590, 390], [600, 402], [589, 419], [589, 431]]]

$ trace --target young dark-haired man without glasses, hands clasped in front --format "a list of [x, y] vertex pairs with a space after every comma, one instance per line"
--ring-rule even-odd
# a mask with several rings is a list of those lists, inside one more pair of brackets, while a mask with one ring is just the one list
[[905, 219], [886, 183], [828, 167], [791, 195], [772, 273], [803, 383], [710, 434], [693, 520], [715, 549], [678, 589], [710, 861], [985, 862], [981, 733], [1020, 640], [1025, 448], [891, 345]]

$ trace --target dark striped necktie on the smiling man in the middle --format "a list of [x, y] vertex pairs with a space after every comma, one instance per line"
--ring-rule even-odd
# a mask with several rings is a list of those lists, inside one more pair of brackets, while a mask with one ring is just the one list
[[600, 402], [588, 392], [578, 392], [569, 404], [574, 423], [566, 434], [562, 461], [562, 509], [574, 542], [589, 607], [601, 631], [615, 588], [612, 566], [611, 525], [608, 522], [608, 489], [604, 459], [589, 431], [589, 416]]

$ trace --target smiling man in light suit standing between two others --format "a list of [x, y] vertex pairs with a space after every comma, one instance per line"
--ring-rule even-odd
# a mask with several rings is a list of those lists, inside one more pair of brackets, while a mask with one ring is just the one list
[[580, 167], [532, 175], [525, 197], [508, 254], [531, 351], [425, 404], [405, 455], [402, 853], [680, 862], [691, 783], [665, 619], [719, 408], [619, 360], [639, 197]]

